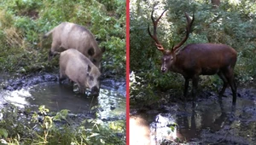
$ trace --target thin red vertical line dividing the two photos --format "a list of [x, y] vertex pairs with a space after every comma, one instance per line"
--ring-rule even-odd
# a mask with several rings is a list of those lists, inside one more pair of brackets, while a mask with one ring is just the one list
[[126, 0], [126, 145], [129, 145], [130, 118], [130, 1]]

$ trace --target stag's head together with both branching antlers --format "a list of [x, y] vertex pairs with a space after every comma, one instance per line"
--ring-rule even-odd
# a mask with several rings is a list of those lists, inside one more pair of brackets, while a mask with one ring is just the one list
[[154, 17], [153, 17], [154, 9], [152, 10], [151, 19], [153, 21], [153, 26], [154, 26], [153, 35], [151, 34], [151, 32], [149, 30], [149, 26], [148, 26], [149, 36], [154, 39], [154, 44], [157, 47], [157, 49], [159, 49], [163, 53], [163, 56], [161, 58], [161, 72], [163, 72], [163, 73], [166, 73], [173, 66], [173, 63], [176, 61], [176, 55], [178, 54], [178, 52], [180, 50], [180, 47], [189, 38], [189, 32], [191, 31], [191, 26], [193, 24], [194, 17], [195, 17], [194, 14], [193, 14], [193, 19], [191, 20], [190, 17], [189, 17], [189, 14], [185, 13], [185, 16], [186, 16], [186, 19], [187, 19], [186, 36], [183, 38], [183, 40], [180, 43], [178, 43], [177, 45], [172, 47], [171, 50], [169, 50], [169, 49], [165, 49], [163, 47], [163, 45], [160, 44], [160, 41], [158, 40], [157, 33], [156, 33], [157, 24], [158, 24], [160, 18], [162, 17], [162, 15], [166, 12], [166, 10], [164, 10], [162, 12], [162, 14], [160, 14], [160, 17], [157, 20], [154, 20]]

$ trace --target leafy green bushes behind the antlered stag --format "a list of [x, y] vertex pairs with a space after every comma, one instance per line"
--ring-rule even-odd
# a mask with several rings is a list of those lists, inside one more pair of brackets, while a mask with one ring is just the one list
[[[236, 49], [237, 62], [235, 67], [236, 82], [245, 83], [256, 77], [255, 34], [256, 34], [256, 4], [252, 0], [221, 1], [218, 9], [213, 9], [208, 1], [131, 1], [131, 71], [140, 77], [136, 85], [131, 86], [131, 97], [151, 95], [148, 90], [139, 90], [141, 84], [147, 84], [149, 90], [183, 90], [183, 77], [175, 73], [160, 73], [161, 52], [156, 49], [152, 38], [148, 35], [148, 26], [152, 30], [150, 14], [155, 4], [154, 18], [161, 18], [157, 32], [161, 44], [166, 49], [181, 41], [185, 34], [186, 20], [184, 12], [190, 16], [195, 14], [192, 32], [186, 44], [216, 43], [227, 44]], [[162, 5], [161, 5], [162, 4]], [[147, 73], [146, 73], [147, 72]], [[222, 81], [218, 77], [201, 78], [204, 86], [218, 89]], [[219, 86], [220, 85], [220, 86]], [[136, 87], [137, 86], [137, 87]], [[133, 88], [132, 88], [133, 87]], [[136, 89], [137, 90], [133, 90]], [[153, 90], [152, 90], [153, 89]], [[144, 94], [146, 93], [146, 94]], [[146, 99], [147, 100], [147, 99]]]

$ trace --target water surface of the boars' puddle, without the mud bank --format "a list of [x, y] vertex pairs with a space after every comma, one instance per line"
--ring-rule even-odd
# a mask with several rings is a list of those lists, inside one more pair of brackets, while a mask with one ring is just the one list
[[2, 90], [0, 96], [4, 102], [10, 102], [18, 107], [38, 109], [40, 105], [45, 105], [50, 111], [68, 109], [72, 113], [90, 113], [91, 107], [99, 106], [102, 107], [97, 109], [100, 119], [125, 119], [125, 97], [113, 88], [101, 89], [100, 95], [93, 97], [74, 93], [70, 84], [48, 82], [21, 90]]

